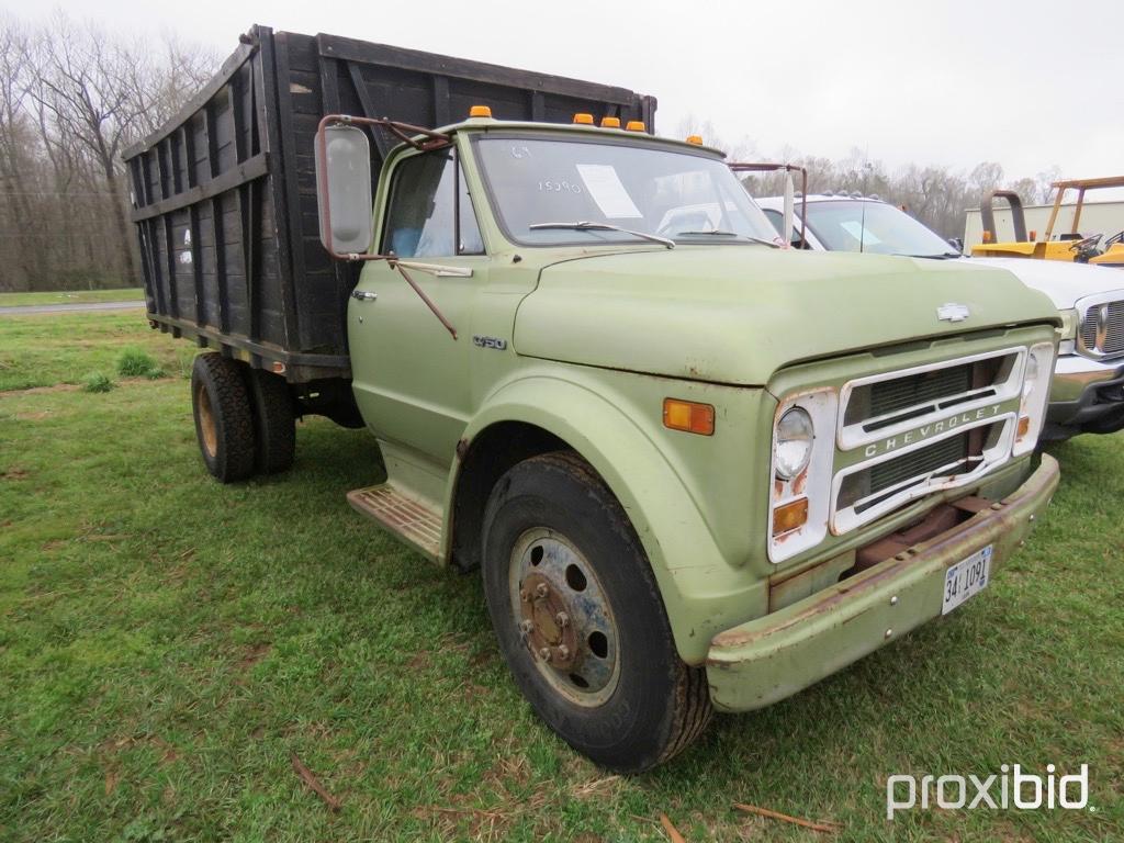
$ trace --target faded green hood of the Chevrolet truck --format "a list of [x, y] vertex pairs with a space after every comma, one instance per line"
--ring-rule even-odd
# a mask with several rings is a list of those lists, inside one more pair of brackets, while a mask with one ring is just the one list
[[[519, 354], [688, 380], [764, 386], [777, 370], [913, 339], [1058, 321], [1014, 275], [968, 261], [761, 246], [680, 246], [542, 270], [519, 306]], [[957, 302], [968, 319], [937, 318]]]

